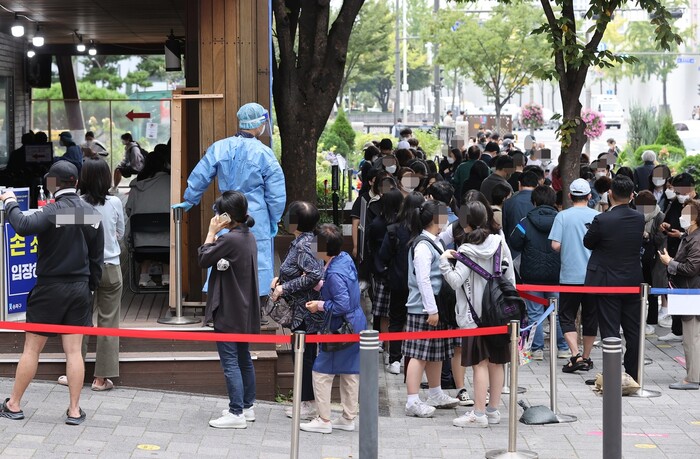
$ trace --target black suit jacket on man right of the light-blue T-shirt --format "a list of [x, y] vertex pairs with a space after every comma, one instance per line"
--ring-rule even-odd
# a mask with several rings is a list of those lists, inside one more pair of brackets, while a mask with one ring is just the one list
[[626, 205], [596, 215], [583, 237], [583, 245], [592, 250], [586, 285], [630, 287], [641, 284], [643, 235], [644, 215]]

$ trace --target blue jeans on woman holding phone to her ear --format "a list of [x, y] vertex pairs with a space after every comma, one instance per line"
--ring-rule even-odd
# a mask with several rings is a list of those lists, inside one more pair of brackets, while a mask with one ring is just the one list
[[243, 414], [243, 409], [250, 408], [255, 402], [255, 370], [248, 343], [217, 342], [216, 348], [226, 378], [228, 410], [233, 414]]

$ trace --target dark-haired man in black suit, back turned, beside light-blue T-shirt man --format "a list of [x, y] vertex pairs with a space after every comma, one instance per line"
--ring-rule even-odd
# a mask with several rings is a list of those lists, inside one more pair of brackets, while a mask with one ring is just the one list
[[[644, 215], [629, 207], [634, 182], [616, 176], [609, 193], [610, 210], [598, 214], [583, 238], [591, 250], [586, 285], [591, 287], [630, 287], [642, 283], [640, 251]], [[624, 365], [627, 374], [638, 380], [639, 295], [595, 295], [602, 338], [617, 337], [620, 326], [625, 335]]]

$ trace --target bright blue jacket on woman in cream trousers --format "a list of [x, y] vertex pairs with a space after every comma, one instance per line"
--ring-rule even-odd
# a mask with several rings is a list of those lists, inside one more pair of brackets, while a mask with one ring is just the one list
[[[367, 328], [365, 314], [360, 307], [360, 284], [355, 263], [350, 255], [341, 252], [326, 268], [321, 297], [323, 309], [330, 314], [329, 330], [343, 325], [343, 317], [352, 325], [354, 333]], [[319, 347], [320, 348], [320, 347]], [[314, 371], [331, 375], [360, 372], [360, 343], [337, 352], [319, 351]]]

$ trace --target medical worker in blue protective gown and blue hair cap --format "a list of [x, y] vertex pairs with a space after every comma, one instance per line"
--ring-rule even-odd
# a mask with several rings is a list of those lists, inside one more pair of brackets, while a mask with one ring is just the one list
[[272, 150], [258, 137], [270, 128], [270, 114], [256, 103], [238, 110], [239, 131], [233, 137], [214, 142], [187, 179], [184, 202], [173, 207], [190, 210], [214, 177], [219, 191], [240, 191], [248, 199], [248, 213], [255, 219], [251, 228], [258, 244], [258, 286], [267, 295], [272, 283], [272, 239], [284, 211], [287, 195], [284, 174]]

